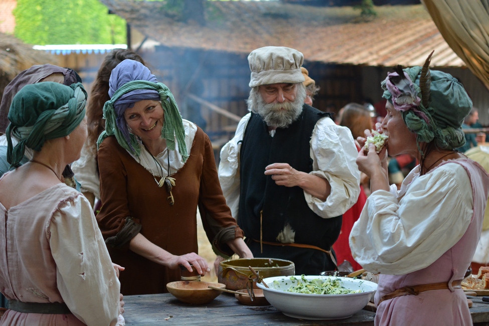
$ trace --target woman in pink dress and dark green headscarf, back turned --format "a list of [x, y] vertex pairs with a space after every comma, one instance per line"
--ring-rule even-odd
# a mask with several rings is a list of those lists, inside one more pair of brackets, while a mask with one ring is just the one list
[[[62, 182], [87, 137], [81, 84], [27, 85], [10, 107], [0, 179], [0, 324], [123, 323], [119, 281], [85, 197]], [[13, 146], [12, 137], [19, 141]]]

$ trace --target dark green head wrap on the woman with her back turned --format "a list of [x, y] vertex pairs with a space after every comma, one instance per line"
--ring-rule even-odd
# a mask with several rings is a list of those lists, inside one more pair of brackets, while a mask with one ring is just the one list
[[[85, 117], [87, 92], [81, 83], [43, 82], [23, 87], [9, 111], [7, 161], [19, 164], [26, 146], [40, 151], [48, 139], [69, 135]], [[19, 140], [14, 147], [12, 136]]]

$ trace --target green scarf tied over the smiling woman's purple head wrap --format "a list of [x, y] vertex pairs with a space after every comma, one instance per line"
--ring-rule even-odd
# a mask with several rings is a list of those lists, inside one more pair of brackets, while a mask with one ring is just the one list
[[166, 139], [167, 146], [171, 150], [175, 150], [175, 139], [177, 139], [179, 152], [184, 161], [186, 161], [189, 154], [187, 152], [187, 145], [185, 144], [185, 129], [175, 98], [165, 84], [147, 80], [134, 80], [125, 83], [119, 89], [117, 89], [110, 100], [105, 103], [103, 108], [105, 131], [103, 131], [98, 137], [97, 148], [107, 136], [114, 135], [119, 145], [121, 145], [125, 150], [129, 151], [133, 155], [140, 155], [141, 147], [136, 139], [136, 136], [129, 133], [129, 141], [127, 141], [123, 130], [121, 130], [121, 128], [118, 126], [117, 119], [123, 118], [123, 112], [122, 115], [119, 116], [114, 109], [114, 103], [116, 103], [125, 94], [135, 90], [152, 90], [159, 94], [161, 106], [165, 112], [165, 122], [161, 128], [161, 137]]

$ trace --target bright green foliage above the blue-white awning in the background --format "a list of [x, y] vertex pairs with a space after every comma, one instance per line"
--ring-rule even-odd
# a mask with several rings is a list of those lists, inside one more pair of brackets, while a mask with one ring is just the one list
[[15, 36], [26, 43], [123, 44], [125, 21], [98, 0], [18, 0]]

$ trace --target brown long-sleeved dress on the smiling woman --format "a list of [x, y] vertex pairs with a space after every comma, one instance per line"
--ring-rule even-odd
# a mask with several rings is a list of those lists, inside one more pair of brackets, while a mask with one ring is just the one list
[[[174, 205], [167, 201], [166, 188], [158, 188], [153, 176], [114, 136], [100, 144], [98, 164], [102, 207], [97, 221], [105, 239], [116, 235], [130, 216], [141, 224], [140, 233], [153, 244], [174, 255], [183, 255], [198, 253], [197, 207], [211, 242], [217, 232], [236, 225], [222, 195], [211, 141], [201, 128], [185, 166], [171, 175], [176, 179], [172, 190]], [[234, 233], [235, 238], [243, 237], [237, 226]], [[179, 269], [153, 263], [130, 251], [128, 245], [108, 248], [112, 261], [125, 267], [120, 273], [123, 295], [165, 293], [167, 283], [180, 280]], [[225, 244], [215, 245], [232, 254]]]

